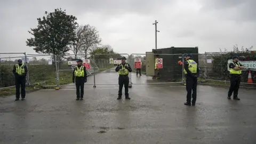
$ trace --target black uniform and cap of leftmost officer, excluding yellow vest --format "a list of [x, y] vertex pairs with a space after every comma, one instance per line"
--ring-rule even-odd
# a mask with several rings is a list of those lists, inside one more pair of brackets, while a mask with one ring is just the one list
[[[19, 67], [23, 65], [21, 60], [18, 60], [18, 65]], [[19, 75], [16, 73], [16, 65], [14, 65], [12, 73], [14, 74], [15, 77], [15, 87], [16, 87], [16, 101], [20, 99], [20, 89], [21, 89], [21, 100], [24, 100], [26, 97], [26, 77], [28, 74], [28, 69], [26, 65], [23, 65], [25, 73]]]

